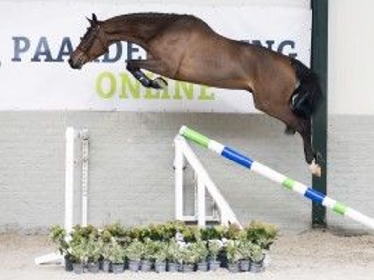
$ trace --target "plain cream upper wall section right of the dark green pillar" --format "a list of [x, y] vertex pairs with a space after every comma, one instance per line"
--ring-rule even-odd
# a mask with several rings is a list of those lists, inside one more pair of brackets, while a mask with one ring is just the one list
[[374, 114], [374, 2], [329, 1], [329, 112]]

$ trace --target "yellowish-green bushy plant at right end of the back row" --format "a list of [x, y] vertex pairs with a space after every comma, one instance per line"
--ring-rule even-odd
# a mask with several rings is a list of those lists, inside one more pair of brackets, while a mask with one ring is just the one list
[[269, 249], [275, 241], [278, 229], [272, 225], [261, 221], [252, 221], [246, 228], [247, 239], [262, 249]]

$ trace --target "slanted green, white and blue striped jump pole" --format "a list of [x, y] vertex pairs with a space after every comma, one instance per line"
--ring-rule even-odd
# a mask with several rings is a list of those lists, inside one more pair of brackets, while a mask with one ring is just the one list
[[199, 132], [188, 128], [187, 126], [182, 126], [179, 130], [179, 134], [188, 140], [191, 140], [205, 148], [208, 148], [213, 152], [216, 152], [224, 158], [232, 160], [258, 174], [261, 174], [262, 176], [265, 176], [266, 178], [278, 184], [281, 184], [286, 189], [299, 193], [302, 196], [309, 198], [310, 200], [316, 203], [322, 204], [323, 206], [332, 209], [337, 214], [350, 217], [353, 220], [356, 220], [368, 226], [369, 228], [374, 229], [374, 220], [372, 218], [344, 205], [343, 203], [333, 200], [325, 194], [320, 193], [310, 187], [307, 187], [306, 185], [298, 181], [292, 180], [291, 178], [257, 161], [254, 161], [249, 157], [246, 157], [234, 151], [233, 149], [230, 149], [229, 147], [222, 145], [217, 141], [211, 140], [208, 137], [200, 134]]

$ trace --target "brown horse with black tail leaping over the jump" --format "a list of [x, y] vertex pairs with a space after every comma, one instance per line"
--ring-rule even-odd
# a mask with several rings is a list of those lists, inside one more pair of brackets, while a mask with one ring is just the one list
[[137, 13], [98, 21], [93, 14], [88, 20], [91, 26], [69, 59], [72, 68], [80, 69], [117, 41], [128, 41], [147, 52], [145, 60], [127, 61], [127, 70], [145, 87], [167, 84], [161, 77], [149, 79], [141, 69], [175, 80], [247, 90], [258, 110], [283, 121], [286, 132], [301, 135], [305, 160], [320, 176], [311, 116], [321, 90], [315, 74], [300, 61], [225, 38], [192, 15]]

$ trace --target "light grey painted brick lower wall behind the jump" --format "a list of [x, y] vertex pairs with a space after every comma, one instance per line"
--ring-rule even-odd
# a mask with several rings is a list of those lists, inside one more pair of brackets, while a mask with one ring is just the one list
[[[329, 122], [328, 191], [374, 216], [374, 117], [334, 116]], [[285, 136], [283, 124], [265, 115], [0, 112], [0, 231], [63, 224], [67, 126], [90, 130], [91, 223], [132, 225], [173, 218], [172, 140], [183, 124], [310, 182], [301, 139]], [[309, 200], [200, 147], [193, 149], [242, 223], [261, 219], [292, 232], [310, 227]], [[362, 229], [333, 214], [328, 218], [332, 226]]]

